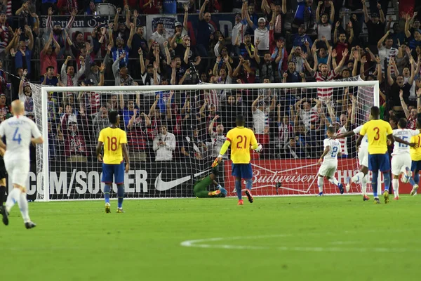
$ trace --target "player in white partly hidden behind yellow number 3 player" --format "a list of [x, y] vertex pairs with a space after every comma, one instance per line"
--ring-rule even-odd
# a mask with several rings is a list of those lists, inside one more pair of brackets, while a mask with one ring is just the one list
[[[334, 138], [346, 138], [347, 136], [354, 136], [357, 133], [361, 131], [363, 126], [358, 126], [354, 130], [346, 132], [346, 133], [340, 133], [337, 136], [334, 136]], [[359, 159], [359, 165], [360, 170], [358, 173], [356, 173], [354, 176], [347, 177], [347, 185], [346, 189], [347, 192], [349, 191], [349, 188], [351, 188], [351, 183], [361, 183], [361, 193], [363, 193], [363, 201], [370, 200], [370, 197], [367, 196], [367, 181], [368, 181], [368, 138], [367, 135], [363, 137], [363, 141], [361, 141], [361, 145], [358, 149], [358, 159]]]

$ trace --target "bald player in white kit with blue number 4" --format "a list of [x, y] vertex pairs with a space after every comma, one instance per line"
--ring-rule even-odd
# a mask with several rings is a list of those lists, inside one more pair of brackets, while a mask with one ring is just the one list
[[[44, 140], [36, 124], [23, 116], [25, 111], [20, 100], [13, 101], [12, 112], [13, 117], [0, 124], [0, 139], [6, 136], [7, 143], [4, 164], [13, 183], [13, 189], [9, 192], [6, 200], [6, 210], [3, 211], [8, 213], [15, 202], [18, 202], [25, 227], [29, 229], [36, 226], [29, 218], [25, 188], [29, 174], [29, 145], [31, 143], [40, 144]], [[0, 146], [4, 148], [2, 141], [0, 141]], [[7, 223], [5, 224], [7, 225]]]

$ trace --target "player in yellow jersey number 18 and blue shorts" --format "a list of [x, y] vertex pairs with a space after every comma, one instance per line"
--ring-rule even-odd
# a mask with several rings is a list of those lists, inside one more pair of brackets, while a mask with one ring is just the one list
[[[111, 212], [109, 204], [109, 192], [111, 191], [113, 176], [114, 183], [117, 185], [118, 208], [117, 213], [123, 213], [124, 197], [124, 159], [126, 159], [126, 173], [130, 166], [127, 151], [126, 132], [119, 129], [120, 115], [116, 111], [108, 112], [109, 127], [100, 131], [97, 145], [98, 161], [102, 162], [102, 183], [104, 185], [105, 213]], [[101, 150], [104, 145], [104, 158], [102, 159]]]

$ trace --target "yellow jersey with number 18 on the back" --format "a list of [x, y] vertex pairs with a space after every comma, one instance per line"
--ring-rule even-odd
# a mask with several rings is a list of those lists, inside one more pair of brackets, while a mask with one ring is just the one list
[[119, 128], [105, 128], [100, 131], [98, 141], [104, 143], [104, 164], [120, 164], [123, 162], [122, 143], [127, 143], [126, 132]]

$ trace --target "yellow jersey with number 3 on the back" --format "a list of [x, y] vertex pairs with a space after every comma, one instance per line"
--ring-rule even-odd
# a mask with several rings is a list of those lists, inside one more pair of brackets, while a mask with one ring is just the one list
[[387, 136], [393, 133], [389, 122], [375, 119], [366, 122], [360, 131], [361, 136], [367, 134], [368, 154], [385, 154], [387, 152]]

